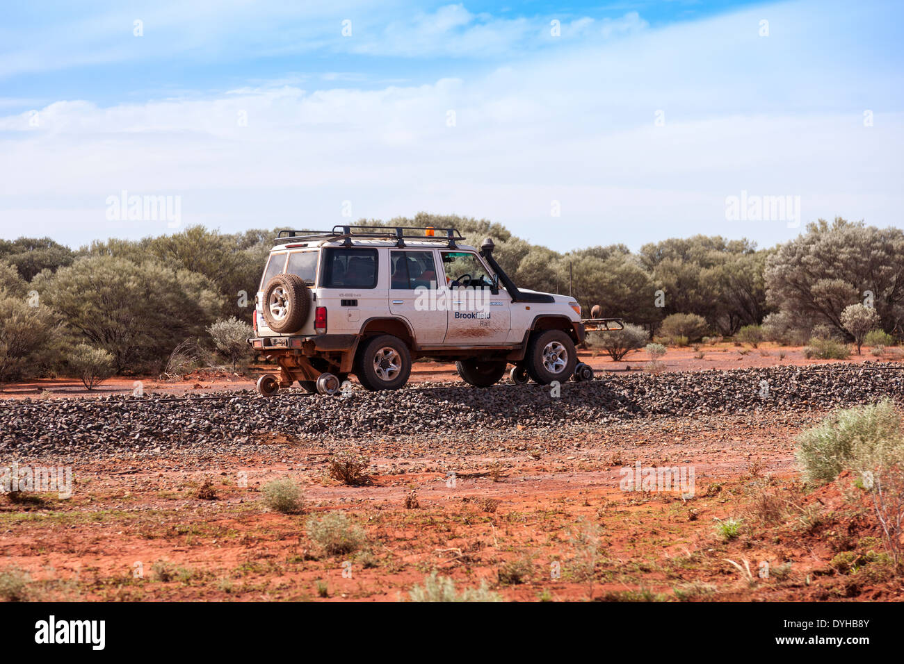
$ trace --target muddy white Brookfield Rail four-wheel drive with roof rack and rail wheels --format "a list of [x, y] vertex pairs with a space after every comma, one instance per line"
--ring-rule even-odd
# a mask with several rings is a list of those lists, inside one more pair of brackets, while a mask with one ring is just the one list
[[333, 394], [350, 374], [367, 389], [398, 389], [418, 358], [455, 360], [476, 387], [502, 379], [509, 363], [517, 383], [592, 379], [575, 351], [584, 323], [621, 326], [582, 321], [569, 296], [518, 288], [492, 239], [477, 252], [456, 229], [300, 232], [279, 233], [255, 298], [249, 342], [279, 366], [259, 379], [264, 396], [296, 380]]

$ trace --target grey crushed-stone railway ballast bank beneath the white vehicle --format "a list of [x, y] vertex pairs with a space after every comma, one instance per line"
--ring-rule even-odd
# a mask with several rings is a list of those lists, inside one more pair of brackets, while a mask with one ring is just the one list
[[635, 373], [550, 386], [422, 383], [346, 395], [250, 392], [222, 398], [96, 397], [0, 402], [0, 454], [249, 446], [266, 435], [481, 435], [515, 427], [599, 426], [613, 418], [827, 410], [904, 398], [904, 367], [833, 364], [658, 376]]

